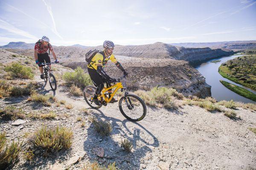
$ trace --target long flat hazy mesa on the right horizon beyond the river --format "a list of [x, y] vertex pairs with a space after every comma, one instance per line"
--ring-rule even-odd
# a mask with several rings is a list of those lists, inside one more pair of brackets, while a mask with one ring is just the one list
[[227, 48], [230, 50], [256, 49], [256, 40], [251, 41], [223, 41], [223, 42], [185, 42], [172, 43], [170, 45], [186, 48]]

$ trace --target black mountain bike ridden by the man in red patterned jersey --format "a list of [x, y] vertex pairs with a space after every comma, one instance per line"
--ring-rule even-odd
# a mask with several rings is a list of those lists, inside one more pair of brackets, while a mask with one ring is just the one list
[[54, 77], [54, 75], [52, 73], [50, 73], [50, 68], [49, 65], [55, 64], [55, 62], [51, 62], [51, 63], [46, 63], [46, 62], [42, 62], [41, 65], [44, 65], [44, 82], [47, 82], [49, 79], [49, 84], [52, 88], [53, 91], [55, 91], [57, 89], [57, 82], [56, 79]]

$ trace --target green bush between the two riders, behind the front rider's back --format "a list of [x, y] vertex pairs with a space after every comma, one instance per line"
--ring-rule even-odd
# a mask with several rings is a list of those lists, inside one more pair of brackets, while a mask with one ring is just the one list
[[85, 74], [81, 67], [75, 69], [74, 72], [66, 72], [63, 79], [68, 86], [76, 85], [79, 88], [85, 88], [87, 85], [92, 85], [89, 74]]

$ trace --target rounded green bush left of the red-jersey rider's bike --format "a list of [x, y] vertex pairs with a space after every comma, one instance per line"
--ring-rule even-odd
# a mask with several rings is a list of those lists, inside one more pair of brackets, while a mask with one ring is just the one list
[[12, 77], [33, 79], [34, 74], [31, 68], [23, 66], [19, 63], [12, 63], [12, 65], [6, 66], [6, 72], [9, 72]]

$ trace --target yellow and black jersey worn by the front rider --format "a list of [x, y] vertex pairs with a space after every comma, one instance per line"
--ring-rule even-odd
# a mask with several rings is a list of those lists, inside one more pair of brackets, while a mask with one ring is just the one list
[[111, 60], [113, 63], [116, 62], [116, 57], [111, 54], [110, 56], [104, 59], [103, 55], [100, 53], [95, 54], [95, 56], [91, 59], [91, 62], [88, 63], [87, 67], [97, 70], [97, 64], [101, 64], [104, 67], [108, 60]]

